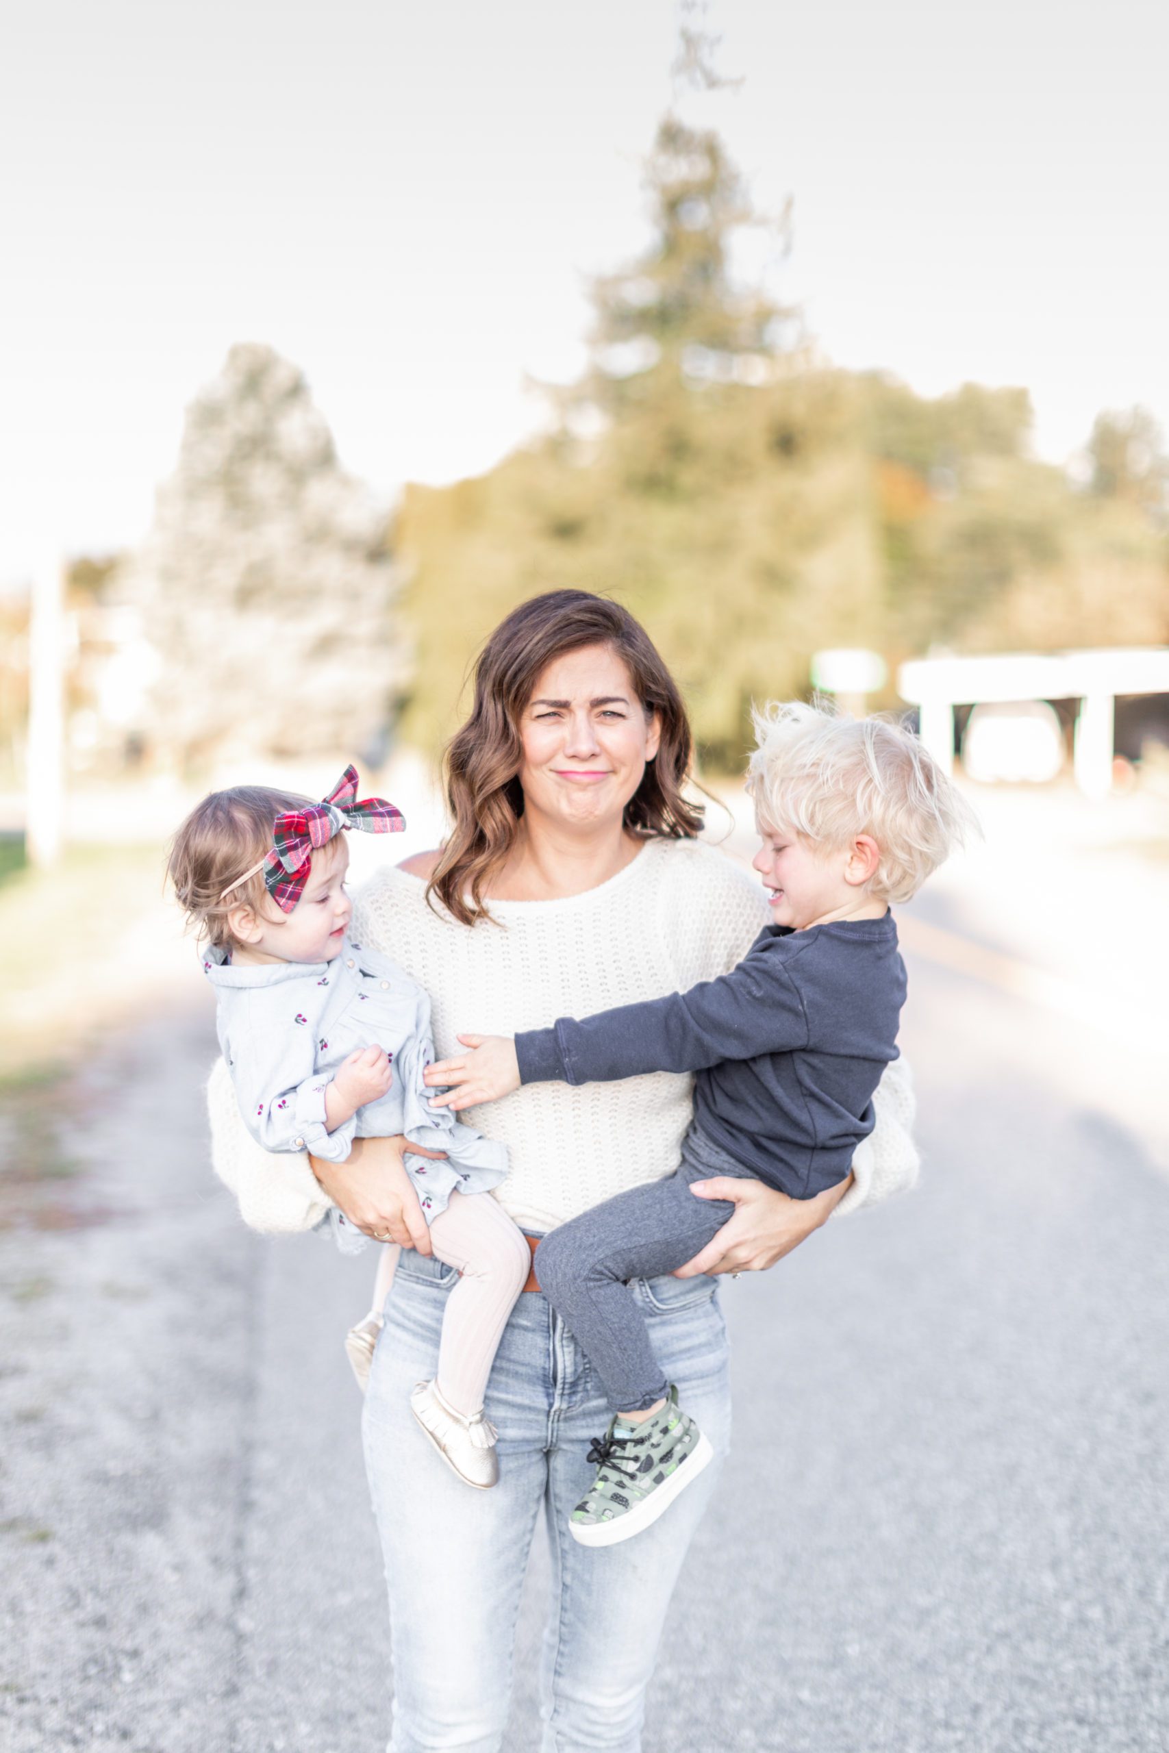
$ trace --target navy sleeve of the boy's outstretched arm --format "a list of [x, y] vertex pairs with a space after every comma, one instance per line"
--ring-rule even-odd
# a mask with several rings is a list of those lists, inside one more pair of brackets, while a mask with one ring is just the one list
[[647, 1071], [703, 1071], [808, 1045], [803, 999], [776, 954], [761, 948], [689, 992], [605, 1010], [515, 1036], [522, 1083], [610, 1083]]

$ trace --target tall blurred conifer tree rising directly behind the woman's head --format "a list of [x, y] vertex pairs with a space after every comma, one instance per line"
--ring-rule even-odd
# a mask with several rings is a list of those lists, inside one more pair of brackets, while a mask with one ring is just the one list
[[[818, 645], [878, 631], [848, 380], [733, 273], [736, 235], [764, 221], [717, 135], [666, 116], [647, 182], [650, 247], [594, 282], [589, 368], [552, 393], [554, 431], [480, 480], [407, 489], [428, 687], [405, 727], [424, 747], [449, 733], [478, 640], [552, 586], [647, 619], [719, 766], [741, 757], [752, 698], [801, 689]], [[787, 214], [771, 233], [785, 247]]]

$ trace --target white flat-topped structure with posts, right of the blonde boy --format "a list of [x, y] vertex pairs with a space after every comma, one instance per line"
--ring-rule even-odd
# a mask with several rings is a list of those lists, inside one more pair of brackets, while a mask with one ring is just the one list
[[[1032, 750], [1027, 759], [1034, 763], [1041, 759], [1041, 743], [1050, 743], [1050, 722], [1046, 733], [1041, 731], [1038, 726], [1043, 713], [1036, 717], [1034, 706], [1053, 699], [1078, 701], [1073, 742], [1076, 785], [1087, 798], [1104, 798], [1113, 782], [1116, 698], [1169, 694], [1169, 647], [915, 657], [901, 664], [897, 692], [920, 708], [922, 742], [945, 771], [953, 764], [955, 706], [1018, 706], [1018, 736], [1027, 742]], [[985, 722], [997, 726], [1001, 749], [1010, 736], [1008, 715], [987, 715]], [[980, 738], [974, 745], [976, 759], [978, 742]], [[987, 743], [990, 763], [995, 731], [983, 733], [981, 742]], [[1046, 775], [1032, 771], [1029, 777]]]

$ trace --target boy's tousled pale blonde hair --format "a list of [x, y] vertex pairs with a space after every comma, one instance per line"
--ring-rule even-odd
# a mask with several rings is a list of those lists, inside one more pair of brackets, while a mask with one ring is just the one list
[[824, 847], [871, 834], [880, 864], [869, 892], [910, 901], [978, 817], [913, 731], [850, 719], [820, 701], [752, 708], [757, 749], [747, 791], [762, 822]]

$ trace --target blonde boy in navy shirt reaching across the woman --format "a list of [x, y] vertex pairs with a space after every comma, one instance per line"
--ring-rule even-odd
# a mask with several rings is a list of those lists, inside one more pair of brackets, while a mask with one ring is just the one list
[[433, 1066], [433, 1108], [494, 1101], [519, 1083], [696, 1071], [678, 1171], [554, 1229], [536, 1276], [608, 1388], [592, 1487], [570, 1530], [612, 1546], [648, 1527], [712, 1457], [650, 1346], [631, 1278], [673, 1273], [734, 1215], [694, 1197], [712, 1178], [794, 1199], [840, 1185], [873, 1131], [873, 1092], [897, 1057], [904, 966], [890, 901], [908, 901], [973, 812], [899, 724], [803, 703], [757, 715], [750, 761], [771, 924], [738, 968], [691, 992], [584, 1022], [503, 1036]]

